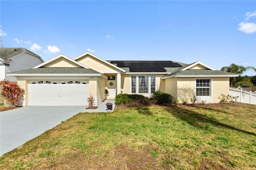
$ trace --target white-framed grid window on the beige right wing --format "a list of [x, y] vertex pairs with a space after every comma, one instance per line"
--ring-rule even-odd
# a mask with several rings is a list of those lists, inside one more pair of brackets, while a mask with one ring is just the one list
[[196, 79], [196, 96], [210, 96], [211, 93], [210, 79]]

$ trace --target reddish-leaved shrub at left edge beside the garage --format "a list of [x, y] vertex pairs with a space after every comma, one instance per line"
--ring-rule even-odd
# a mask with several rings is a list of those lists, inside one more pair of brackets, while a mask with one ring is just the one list
[[19, 98], [24, 95], [25, 91], [16, 83], [6, 79], [0, 83], [0, 86], [2, 89], [1, 95], [6, 98], [6, 101], [12, 107], [17, 106]]

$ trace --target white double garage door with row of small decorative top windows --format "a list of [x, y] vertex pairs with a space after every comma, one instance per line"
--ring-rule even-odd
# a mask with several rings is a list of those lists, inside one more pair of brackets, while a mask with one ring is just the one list
[[88, 106], [89, 81], [42, 80], [28, 84], [29, 106]]

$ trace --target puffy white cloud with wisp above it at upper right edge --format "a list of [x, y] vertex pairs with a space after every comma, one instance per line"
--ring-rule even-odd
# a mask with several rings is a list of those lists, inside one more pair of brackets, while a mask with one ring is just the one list
[[241, 22], [238, 24], [238, 30], [241, 32], [244, 32], [246, 34], [252, 34], [254, 32], [256, 32], [256, 23], [255, 22], [248, 22], [248, 20], [253, 17], [256, 16], [256, 11], [254, 12], [246, 12], [245, 14], [247, 17], [245, 18], [245, 22]]

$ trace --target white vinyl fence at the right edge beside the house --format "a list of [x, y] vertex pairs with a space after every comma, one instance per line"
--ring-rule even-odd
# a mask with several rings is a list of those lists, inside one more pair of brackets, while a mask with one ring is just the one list
[[237, 102], [256, 105], [256, 93], [253, 93], [252, 91], [247, 91], [242, 88], [237, 89], [234, 87], [229, 87], [229, 95], [232, 97], [238, 96], [236, 99]]

